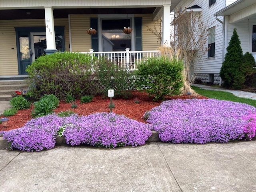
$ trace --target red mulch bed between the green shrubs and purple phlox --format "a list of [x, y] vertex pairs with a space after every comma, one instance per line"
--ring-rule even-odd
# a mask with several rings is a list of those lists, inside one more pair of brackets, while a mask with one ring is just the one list
[[[153, 107], [160, 105], [161, 102], [153, 102], [153, 97], [148, 97], [146, 92], [139, 92], [137, 90], [132, 91], [132, 98], [129, 99], [120, 99], [113, 98], [113, 102], [115, 103], [115, 108], [112, 109], [112, 112], [120, 115], [125, 115], [128, 118], [132, 118], [134, 120], [144, 122], [143, 115], [146, 111], [151, 110]], [[194, 98], [206, 98], [204, 96], [197, 96]], [[140, 103], [136, 104], [135, 100], [139, 100]], [[172, 99], [189, 99], [187, 95], [182, 96], [170, 96], [167, 97], [166, 100]], [[54, 110], [54, 112], [58, 113], [61, 111], [71, 110], [77, 113], [78, 115], [89, 115], [96, 112], [110, 112], [110, 108], [108, 108], [109, 98], [102, 98], [102, 96], [95, 96], [90, 103], [80, 104], [80, 100], [76, 100], [77, 108], [71, 108], [70, 103], [66, 103], [64, 101], [60, 101], [60, 105], [58, 108]], [[0, 124], [0, 131], [7, 131], [12, 129], [17, 129], [30, 120], [32, 118], [31, 111], [33, 106], [31, 105], [30, 109], [19, 110], [18, 113], [14, 116], [10, 116], [8, 125], [6, 128], [3, 128], [2, 124]], [[1, 116], [2, 118], [4, 116]]]

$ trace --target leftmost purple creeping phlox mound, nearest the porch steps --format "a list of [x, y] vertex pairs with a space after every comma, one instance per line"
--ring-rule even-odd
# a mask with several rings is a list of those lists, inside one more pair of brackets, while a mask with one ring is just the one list
[[0, 134], [10, 143], [10, 149], [22, 151], [41, 151], [54, 148], [57, 132], [66, 122], [74, 121], [78, 116], [59, 117], [56, 114], [38, 117], [28, 121], [22, 128], [3, 131]]

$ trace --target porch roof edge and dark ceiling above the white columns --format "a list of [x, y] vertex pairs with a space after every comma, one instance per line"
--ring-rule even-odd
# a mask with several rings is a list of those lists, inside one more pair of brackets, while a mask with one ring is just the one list
[[43, 19], [44, 7], [52, 6], [54, 18], [68, 14], [153, 14], [163, 5], [172, 10], [180, 0], [1, 0], [0, 20]]

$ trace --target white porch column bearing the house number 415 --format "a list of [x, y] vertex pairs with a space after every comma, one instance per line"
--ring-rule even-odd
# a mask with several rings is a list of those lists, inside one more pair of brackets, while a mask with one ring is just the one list
[[46, 6], [44, 12], [46, 30], [46, 49], [44, 51], [46, 54], [52, 54], [56, 52], [53, 9], [51, 6]]

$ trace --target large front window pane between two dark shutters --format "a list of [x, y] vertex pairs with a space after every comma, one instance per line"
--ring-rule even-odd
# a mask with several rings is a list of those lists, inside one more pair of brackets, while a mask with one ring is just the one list
[[124, 26], [130, 26], [130, 20], [102, 20], [102, 50], [103, 51], [125, 51], [131, 49], [132, 34], [123, 32]]

